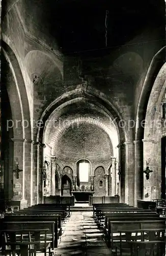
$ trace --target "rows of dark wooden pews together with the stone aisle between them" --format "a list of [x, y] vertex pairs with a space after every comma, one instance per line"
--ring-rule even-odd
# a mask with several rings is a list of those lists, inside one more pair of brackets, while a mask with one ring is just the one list
[[164, 256], [165, 200], [153, 203], [12, 208], [1, 216], [1, 255]]

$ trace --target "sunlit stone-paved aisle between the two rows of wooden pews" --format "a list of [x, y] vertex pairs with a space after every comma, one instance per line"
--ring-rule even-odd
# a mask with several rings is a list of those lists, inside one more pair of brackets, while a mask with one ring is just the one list
[[54, 255], [110, 255], [92, 215], [92, 211], [71, 212], [69, 221], [65, 224], [62, 241]]

